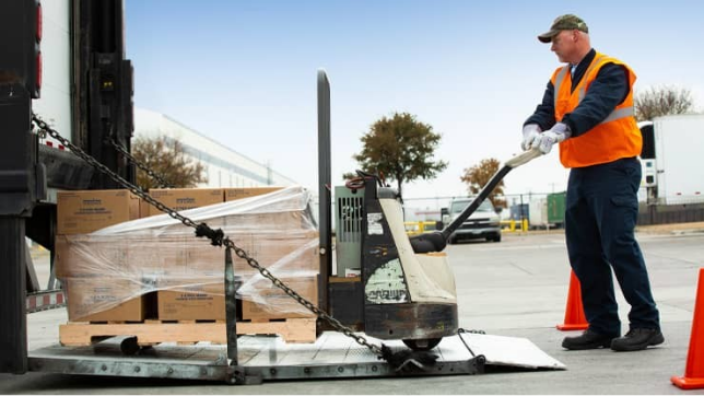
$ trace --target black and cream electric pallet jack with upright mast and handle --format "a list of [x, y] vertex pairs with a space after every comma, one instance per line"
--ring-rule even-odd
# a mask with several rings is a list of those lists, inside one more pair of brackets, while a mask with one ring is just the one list
[[[330, 156], [325, 151], [329, 149], [329, 82], [325, 71], [319, 71], [321, 252], [330, 252], [324, 231], [330, 230], [325, 216], [326, 208], [330, 207], [330, 191], [325, 188], [330, 185], [329, 178], [325, 178], [325, 175], [329, 176]], [[444, 230], [410, 238], [403, 224], [401, 197], [378, 176], [357, 172], [360, 177], [355, 183], [337, 187], [337, 269], [341, 272], [356, 265], [361, 279], [356, 290], [350, 282], [329, 283], [331, 315], [345, 325], [356, 325], [356, 329], [368, 336], [400, 339], [416, 351], [430, 350], [443, 337], [456, 335], [459, 326], [455, 278], [443, 253], [447, 241], [511, 170], [540, 154], [533, 149], [513, 158]], [[359, 249], [359, 254], [345, 254], [350, 251], [349, 245]], [[321, 268], [330, 268], [330, 265], [322, 264]], [[356, 306], [355, 302], [361, 302], [362, 306]]]

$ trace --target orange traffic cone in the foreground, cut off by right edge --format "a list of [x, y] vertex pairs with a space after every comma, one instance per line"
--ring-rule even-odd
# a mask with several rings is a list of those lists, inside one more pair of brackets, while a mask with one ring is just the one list
[[694, 302], [692, 335], [687, 352], [684, 376], [672, 376], [670, 381], [682, 389], [704, 388], [704, 268], [700, 268], [700, 280]]

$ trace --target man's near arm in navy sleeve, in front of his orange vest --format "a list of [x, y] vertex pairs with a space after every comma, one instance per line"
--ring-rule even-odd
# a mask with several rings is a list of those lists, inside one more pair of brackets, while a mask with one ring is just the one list
[[630, 90], [627, 75], [625, 68], [615, 63], [607, 63], [599, 70], [579, 105], [562, 119], [573, 138], [599, 125], [625, 100]]

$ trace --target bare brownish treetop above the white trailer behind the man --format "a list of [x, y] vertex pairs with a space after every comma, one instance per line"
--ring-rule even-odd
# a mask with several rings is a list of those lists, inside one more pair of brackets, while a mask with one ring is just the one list
[[638, 121], [653, 120], [655, 117], [669, 114], [684, 114], [692, 110], [692, 94], [688, 89], [659, 86], [635, 95], [635, 119]]

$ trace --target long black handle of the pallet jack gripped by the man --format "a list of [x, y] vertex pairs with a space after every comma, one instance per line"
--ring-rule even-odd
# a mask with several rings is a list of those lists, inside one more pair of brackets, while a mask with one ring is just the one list
[[491, 191], [494, 190], [496, 185], [511, 172], [511, 170], [516, 168], [523, 164], [530, 162], [531, 160], [542, 155], [542, 152], [539, 148], [533, 148], [528, 151], [515, 155], [511, 160], [506, 161], [504, 166], [502, 166], [486, 183], [486, 185], [479, 191], [479, 195], [465, 208], [465, 210], [455, 219], [451, 223], [447, 224], [443, 231], [434, 231], [432, 233], [419, 234], [410, 237], [411, 246], [413, 247], [414, 253], [433, 253], [433, 252], [443, 252], [447, 247], [447, 240], [449, 236], [457, 230], [464, 222], [467, 220], [476, 210], [479, 208], [479, 205], [489, 197]]

